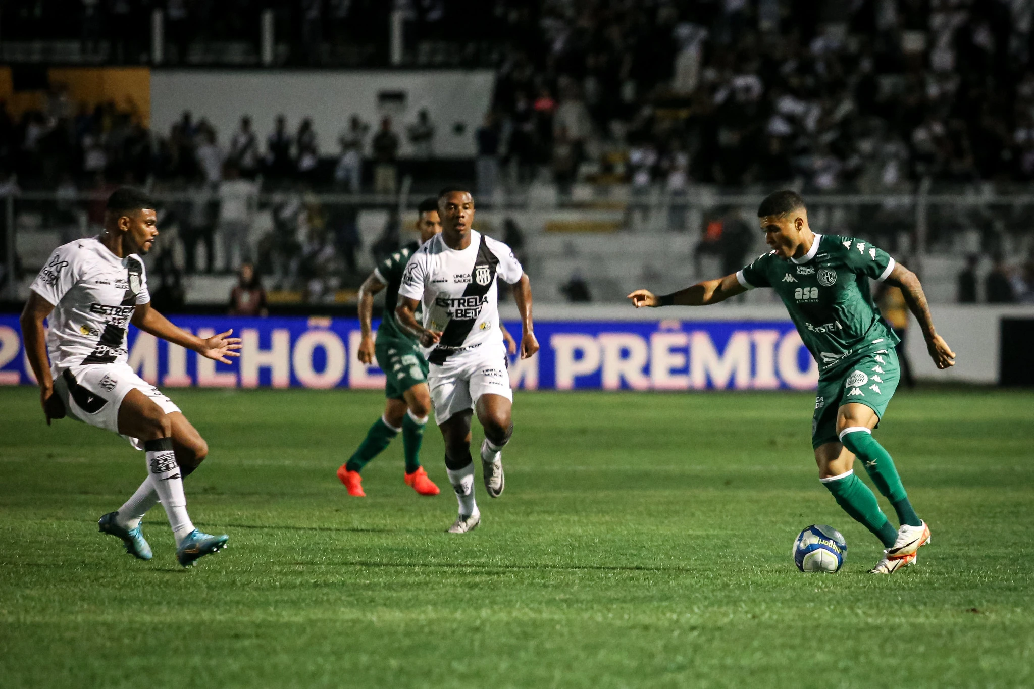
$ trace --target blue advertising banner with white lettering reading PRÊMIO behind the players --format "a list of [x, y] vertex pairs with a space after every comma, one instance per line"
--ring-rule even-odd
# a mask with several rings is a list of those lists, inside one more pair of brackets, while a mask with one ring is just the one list
[[[218, 364], [129, 330], [129, 365], [163, 387], [384, 385], [356, 356], [354, 318], [171, 316], [201, 337], [234, 328], [241, 357]], [[374, 323], [375, 325], [375, 323]], [[519, 323], [507, 323], [515, 336]], [[524, 389], [814, 389], [818, 367], [789, 321], [541, 321], [542, 350], [511, 358]], [[33, 384], [14, 315], [0, 315], [0, 384]]]

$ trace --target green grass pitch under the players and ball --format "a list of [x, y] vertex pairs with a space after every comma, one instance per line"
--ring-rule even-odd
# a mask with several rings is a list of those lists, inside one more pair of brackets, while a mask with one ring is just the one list
[[[337, 482], [375, 393], [172, 395], [211, 445], [191, 515], [230, 534], [190, 570], [160, 507], [151, 562], [97, 533], [142, 453], [0, 390], [0, 686], [1034, 685], [1032, 394], [895, 398], [877, 437], [933, 544], [886, 577], [817, 480], [808, 394], [518, 393], [506, 494], [479, 469], [464, 536], [433, 426], [438, 497], [403, 484], [400, 439], [368, 498]], [[842, 572], [793, 567], [813, 523]]]

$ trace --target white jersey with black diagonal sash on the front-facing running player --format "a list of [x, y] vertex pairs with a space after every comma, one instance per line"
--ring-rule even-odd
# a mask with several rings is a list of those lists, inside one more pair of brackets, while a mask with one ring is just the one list
[[423, 304], [424, 327], [443, 333], [444, 348], [503, 344], [495, 278], [515, 284], [523, 274], [503, 242], [470, 230], [470, 245], [457, 250], [437, 234], [409, 257], [398, 293]]

